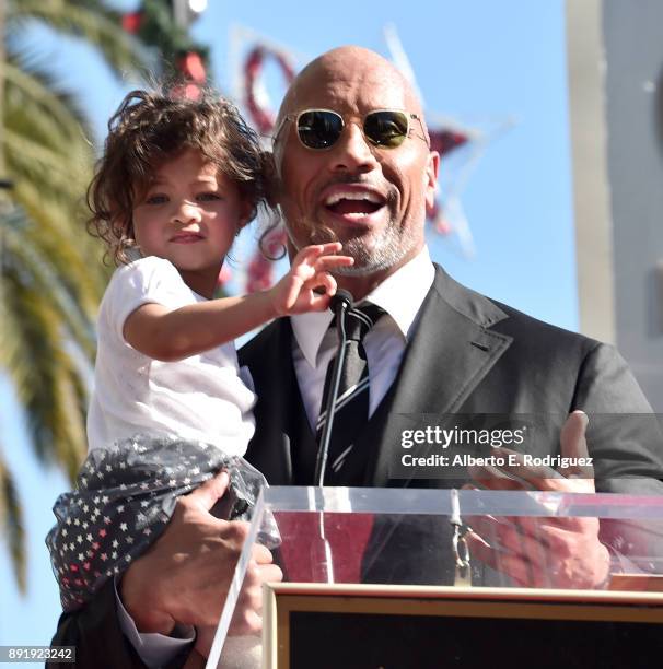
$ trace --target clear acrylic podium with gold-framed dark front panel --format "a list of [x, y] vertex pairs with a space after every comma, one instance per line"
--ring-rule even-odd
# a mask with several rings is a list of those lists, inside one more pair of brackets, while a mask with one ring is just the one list
[[[589, 587], [578, 574], [559, 573], [549, 528], [596, 520], [610, 573]], [[522, 535], [520, 580], [490, 529], [499, 524]], [[466, 555], [467, 526], [481, 528], [492, 565], [473, 550]], [[245, 664], [226, 661], [235, 637], [222, 648], [257, 541], [276, 547], [283, 583], [265, 586], [261, 647], [255, 639]], [[643, 649], [653, 664], [633, 659]], [[504, 667], [663, 666], [663, 496], [267, 489], [207, 667], [479, 667], [490, 659]]]

